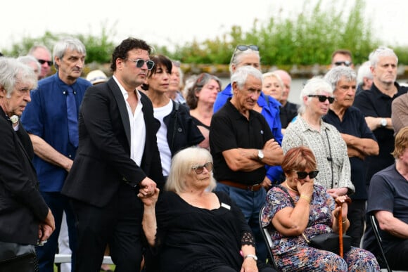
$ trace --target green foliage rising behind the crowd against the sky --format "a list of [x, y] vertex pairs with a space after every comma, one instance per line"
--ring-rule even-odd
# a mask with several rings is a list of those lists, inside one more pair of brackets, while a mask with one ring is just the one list
[[[363, 63], [378, 45], [386, 44], [371, 29], [371, 21], [364, 18], [365, 0], [356, 0], [350, 11], [345, 11], [346, 1], [305, 0], [302, 12], [293, 18], [284, 18], [282, 11], [272, 15], [266, 22], [255, 19], [250, 30], [234, 25], [229, 32], [202, 42], [193, 40], [176, 45], [170, 51], [166, 46], [154, 45], [155, 53], [165, 54], [181, 63], [229, 64], [231, 53], [237, 44], [256, 44], [260, 48], [263, 65], [314, 65], [329, 64], [331, 53], [338, 48], [352, 52], [355, 63]], [[347, 14], [347, 15], [346, 15]], [[115, 47], [115, 25], [102, 24], [101, 35], [78, 34], [87, 47], [87, 63], [108, 63]], [[44, 44], [52, 48], [53, 43], [66, 34], [46, 32], [43, 37], [25, 37], [14, 44], [8, 56], [27, 53], [33, 44]], [[407, 47], [390, 46], [395, 50], [400, 63], [408, 63]]]

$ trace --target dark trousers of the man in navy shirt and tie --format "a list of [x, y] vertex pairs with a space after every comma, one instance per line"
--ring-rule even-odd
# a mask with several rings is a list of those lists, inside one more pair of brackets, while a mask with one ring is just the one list
[[42, 246], [35, 248], [37, 252], [37, 258], [39, 262], [40, 272], [53, 272], [54, 271], [54, 257], [58, 250], [58, 236], [60, 235], [61, 221], [63, 219], [63, 212], [67, 216], [68, 235], [70, 238], [70, 249], [72, 251], [72, 264], [75, 263], [75, 243], [77, 240], [75, 230], [75, 219], [72, 213], [72, 207], [68, 197], [61, 195], [58, 192], [41, 192], [42, 197], [46, 204], [53, 213], [54, 220], [56, 222], [56, 230], [51, 234], [47, 242]]

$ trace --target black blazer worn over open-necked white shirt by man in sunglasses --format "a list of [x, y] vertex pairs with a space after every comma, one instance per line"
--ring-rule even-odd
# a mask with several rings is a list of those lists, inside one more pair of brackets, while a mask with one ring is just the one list
[[130, 158], [129, 115], [115, 79], [87, 89], [79, 109], [77, 155], [65, 179], [63, 195], [103, 207], [121, 183], [136, 187], [146, 176], [156, 183], [164, 182], [156, 140], [160, 122], [153, 117], [153, 105], [144, 93], [141, 103], [146, 143], [139, 166]]

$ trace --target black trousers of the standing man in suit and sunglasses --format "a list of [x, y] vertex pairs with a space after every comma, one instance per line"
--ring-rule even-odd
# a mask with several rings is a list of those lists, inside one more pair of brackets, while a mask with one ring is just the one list
[[109, 243], [115, 272], [140, 271], [143, 204], [136, 191], [123, 184], [106, 207], [72, 200], [77, 217], [75, 272], [97, 272]]

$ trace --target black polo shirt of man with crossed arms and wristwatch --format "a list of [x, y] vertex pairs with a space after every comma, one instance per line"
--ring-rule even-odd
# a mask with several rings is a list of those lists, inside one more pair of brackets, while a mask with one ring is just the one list
[[233, 148], [262, 149], [274, 136], [259, 112], [250, 110], [248, 121], [230, 100], [211, 119], [210, 152], [214, 160], [214, 177], [217, 181], [228, 180], [246, 185], [261, 183], [266, 174], [265, 167], [254, 171], [232, 171], [222, 152]]

